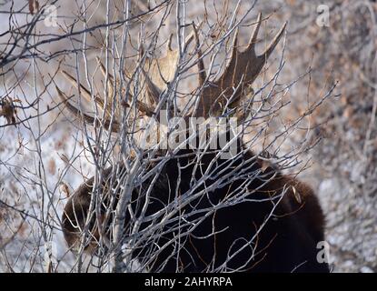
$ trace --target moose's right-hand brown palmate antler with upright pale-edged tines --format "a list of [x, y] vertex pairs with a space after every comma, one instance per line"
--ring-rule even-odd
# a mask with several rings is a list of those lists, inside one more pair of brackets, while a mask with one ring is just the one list
[[[196, 116], [209, 117], [211, 115], [221, 115], [225, 107], [229, 105], [239, 105], [243, 98], [243, 90], [249, 85], [253, 84], [255, 78], [260, 74], [263, 65], [266, 63], [268, 57], [273, 52], [275, 46], [279, 43], [283, 35], [286, 23], [282, 26], [279, 32], [273, 38], [273, 41], [264, 50], [263, 54], [256, 55], [255, 43], [258, 35], [259, 27], [262, 23], [262, 14], [258, 15], [256, 26], [253, 34], [250, 37], [249, 44], [243, 52], [238, 51], [238, 29], [233, 38], [233, 50], [231, 60], [217, 80], [204, 84], [207, 79], [202, 52], [198, 48], [198, 66], [199, 66], [199, 88], [203, 87], [200, 93], [199, 104], [194, 112]], [[195, 31], [195, 39], [198, 44], [198, 36]]]

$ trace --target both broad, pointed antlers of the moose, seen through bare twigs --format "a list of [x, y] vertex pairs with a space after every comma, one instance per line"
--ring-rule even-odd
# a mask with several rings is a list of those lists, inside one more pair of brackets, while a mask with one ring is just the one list
[[[199, 68], [199, 100], [196, 104], [195, 110], [190, 114], [191, 116], [203, 116], [208, 118], [210, 116], [222, 115], [224, 109], [236, 108], [241, 105], [243, 99], [247, 94], [246, 91], [253, 84], [255, 78], [260, 74], [263, 69], [263, 65], [266, 63], [268, 57], [272, 54], [273, 49], [279, 43], [283, 32], [286, 27], [286, 23], [281, 27], [279, 32], [274, 36], [273, 41], [264, 50], [263, 54], [256, 55], [255, 43], [258, 35], [259, 28], [262, 24], [262, 15], [258, 15], [258, 20], [253, 29], [253, 33], [250, 37], [249, 44], [246, 49], [240, 52], [237, 49], [238, 41], [238, 30], [235, 32], [233, 37], [233, 50], [231, 54], [231, 59], [226, 65], [223, 75], [214, 81], [208, 81], [207, 74], [203, 64], [203, 55], [199, 46], [199, 36], [196, 27], [193, 25], [193, 32], [188, 35], [184, 42], [184, 51], [187, 46], [195, 38], [196, 42], [196, 53], [198, 56], [198, 68]], [[142, 95], [144, 95], [144, 100], [135, 100], [135, 105], [142, 115], [152, 116], [154, 115], [154, 108], [158, 105], [160, 97], [167, 85], [174, 80], [178, 69], [178, 63], [180, 59], [180, 52], [178, 50], [173, 50], [171, 45], [172, 35], [166, 45], [166, 55], [161, 58], [150, 58], [144, 55], [144, 48], [142, 47], [139, 55], [140, 60], [144, 57], [144, 64], [141, 67], [143, 74], [142, 84], [144, 83], [144, 89], [142, 90]], [[104, 65], [97, 59], [100, 69], [104, 76], [107, 76], [107, 87], [108, 95], [107, 97], [94, 95], [94, 102], [99, 105], [102, 110], [105, 110], [105, 120], [102, 121], [106, 128], [112, 126], [114, 132], [118, 131], [120, 125], [116, 120], [120, 120], [120, 108], [115, 108], [114, 122], [111, 120], [111, 112], [113, 107], [113, 97], [114, 97], [114, 87], [119, 84], [119, 81], [114, 78], [113, 75], [106, 73]], [[76, 79], [69, 75], [68, 73], [61, 72], [64, 77], [76, 87], [81, 94], [84, 96], [86, 101], [92, 102], [91, 92], [84, 87], [84, 85], [77, 84]], [[69, 103], [69, 98], [67, 98], [64, 93], [56, 87], [58, 95], [64, 101], [67, 108], [74, 113], [74, 115], [84, 116], [86, 122], [94, 122], [94, 117], [90, 115], [81, 114], [80, 110], [74, 105]], [[130, 93], [131, 97], [134, 96]], [[140, 99], [140, 98], [138, 98]], [[128, 100], [126, 100], [126, 103]], [[128, 103], [127, 103], [128, 104]], [[184, 116], [188, 117], [188, 115]]]

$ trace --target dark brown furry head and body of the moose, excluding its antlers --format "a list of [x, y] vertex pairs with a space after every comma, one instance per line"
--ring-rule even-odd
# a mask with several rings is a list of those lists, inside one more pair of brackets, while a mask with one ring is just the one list
[[[211, 153], [205, 154], [201, 159], [202, 166], [194, 171], [194, 166], [190, 163], [194, 161], [195, 156], [187, 156], [194, 153], [193, 150], [181, 150], [178, 155], [171, 157], [162, 166], [160, 176], [151, 194], [151, 203], [146, 211], [146, 216], [155, 214], [171, 203], [176, 195], [176, 188], [179, 189], [178, 195], [184, 195], [189, 191], [193, 186], [192, 180], [201, 178], [202, 171], [208, 168], [215, 156]], [[150, 166], [158, 165], [151, 164]], [[237, 168], [237, 166], [240, 167]], [[219, 175], [221, 170], [224, 170], [223, 173], [216, 176]], [[190, 235], [184, 236], [181, 241], [183, 247], [180, 249], [179, 256], [172, 256], [176, 252], [174, 244], [168, 246], [155, 257], [154, 261], [149, 262], [149, 270], [175, 272], [177, 266], [178, 270], [183, 272], [202, 272], [207, 270], [207, 267], [213, 269], [222, 266], [228, 252], [234, 254], [247, 240], [249, 246], [228, 261], [226, 270], [238, 269], [242, 266], [242, 269], [238, 269], [238, 271], [328, 272], [327, 264], [320, 264], [316, 260], [317, 251], [319, 251], [316, 248], [317, 243], [324, 240], [324, 218], [313, 190], [295, 178], [283, 176], [272, 167], [263, 171], [250, 151], [234, 159], [218, 160], [210, 172], [211, 176], [205, 181], [205, 186], [213, 185], [219, 178], [224, 178], [231, 171], [233, 171], [231, 176], [237, 176], [236, 179], [230, 178], [229, 181], [224, 179], [222, 186], [184, 206], [181, 215], [186, 216], [186, 221], [195, 221], [195, 219], [203, 217], [205, 211], [202, 214], [187, 215], [193, 213], [194, 210], [206, 209], [229, 199], [237, 191], [231, 196], [229, 194], [237, 187], [242, 186], [244, 182], [251, 182], [247, 186], [250, 192], [247, 197], [253, 201], [243, 201], [233, 206], [219, 208], [214, 214], [204, 219], [200, 225], [196, 226]], [[177, 186], [179, 172], [181, 172], [182, 181]], [[108, 180], [111, 173], [111, 168], [104, 170], [104, 180]], [[150, 183], [151, 179], [147, 179], [144, 183], [134, 186], [132, 207], [136, 215], [140, 214], [139, 207], [143, 205], [140, 202], [144, 202], [144, 192]], [[86, 185], [80, 186], [65, 206], [63, 230], [68, 246], [74, 246], [80, 237], [71, 221], [76, 224], [75, 212], [75, 215], [78, 215], [79, 224], [84, 225], [83, 218], [87, 215], [92, 186], [93, 178]], [[204, 185], [199, 186], [194, 193], [203, 190], [203, 188]], [[287, 192], [275, 208], [273, 216], [268, 219], [256, 239], [250, 242], [256, 230], [263, 225], [263, 222], [273, 210], [273, 205], [278, 202], [278, 197], [283, 189], [287, 189]], [[110, 195], [114, 194], [110, 193]], [[178, 217], [178, 215], [175, 217]], [[127, 221], [129, 220], [130, 217], [127, 214]], [[154, 221], [154, 223], [158, 223], [158, 221]], [[149, 226], [150, 223], [142, 225], [141, 230]], [[208, 236], [213, 232], [213, 226], [215, 231], [219, 233]], [[94, 238], [98, 239], [98, 232], [95, 230], [94, 223], [91, 228]], [[148, 244], [146, 241], [145, 244], [138, 246], [134, 250], [134, 256], [144, 261], [151, 256], [151, 253], [154, 254], [156, 245], [161, 247], [165, 243], [173, 241], [174, 235], [177, 234], [177, 231], [173, 228], [173, 223], [164, 226], [164, 236], [155, 241], [154, 245]], [[125, 235], [129, 229], [130, 226], [126, 223], [124, 226]], [[169, 232], [170, 230], [172, 232]], [[187, 226], [181, 229], [181, 231], [185, 230], [187, 230]], [[208, 237], [203, 239], [204, 236]], [[234, 241], [236, 243], [233, 245]], [[93, 239], [87, 248], [94, 250], [95, 247], [96, 243]]]

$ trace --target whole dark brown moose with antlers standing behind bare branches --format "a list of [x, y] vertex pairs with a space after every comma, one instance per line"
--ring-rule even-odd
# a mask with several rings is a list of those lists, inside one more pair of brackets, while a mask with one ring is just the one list
[[[193, 27], [185, 44], [196, 41], [200, 93], [193, 94], [197, 100], [194, 109], [182, 118], [217, 117], [232, 110], [238, 120], [245, 118], [250, 110], [250, 95], [245, 91], [261, 73], [286, 27], [284, 24], [263, 54], [257, 55], [255, 44], [261, 23], [260, 14], [242, 51], [237, 48], [235, 32], [230, 60], [223, 75], [213, 81], [208, 80], [199, 35]], [[168, 90], [178, 61], [179, 54], [171, 44], [163, 58], [144, 57], [141, 71], [146, 98], [136, 104], [142, 115], [156, 114], [154, 108]], [[104, 65], [100, 66], [104, 73]], [[92, 100], [84, 85], [77, 84], [68, 73], [63, 75]], [[118, 81], [108, 72], [107, 76], [108, 91], [115, 94]], [[94, 117], [82, 113], [57, 86], [56, 90], [66, 108], [95, 124]], [[94, 101], [104, 111], [113, 102], [111, 97]], [[120, 132], [119, 113], [111, 121], [109, 116], [102, 125]], [[83, 247], [101, 256], [101, 251], [112, 247], [112, 224], [118, 219], [122, 223], [118, 243], [132, 252], [144, 271], [329, 272], [329, 266], [317, 260], [317, 244], [324, 240], [324, 216], [311, 187], [283, 175], [273, 164], [263, 166], [242, 138], [236, 137], [235, 146], [233, 158], [220, 158], [220, 146], [161, 150], [154, 159], [134, 156], [131, 160], [143, 165], [143, 173], [136, 175], [122, 163], [103, 169], [99, 181], [98, 177], [87, 180], [64, 207], [62, 227], [68, 246], [72, 250]], [[130, 175], [137, 177], [131, 179], [132, 183], [127, 179]], [[124, 193], [130, 196], [124, 198]]]

